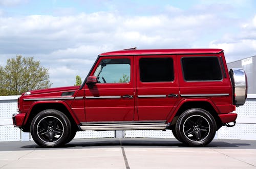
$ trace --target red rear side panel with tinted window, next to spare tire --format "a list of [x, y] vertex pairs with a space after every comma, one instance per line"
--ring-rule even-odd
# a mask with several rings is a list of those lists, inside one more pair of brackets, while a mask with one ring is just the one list
[[[204, 98], [214, 102], [220, 111], [230, 112], [233, 105], [230, 79], [223, 71], [220, 54], [182, 54], [180, 64], [180, 95], [182, 98]], [[229, 105], [227, 108], [227, 105]]]

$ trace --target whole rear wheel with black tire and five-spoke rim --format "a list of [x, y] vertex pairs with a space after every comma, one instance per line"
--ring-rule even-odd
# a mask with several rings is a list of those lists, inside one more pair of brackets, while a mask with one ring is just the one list
[[205, 146], [214, 139], [216, 122], [204, 109], [188, 109], [178, 118], [176, 133], [178, 140], [187, 146]]

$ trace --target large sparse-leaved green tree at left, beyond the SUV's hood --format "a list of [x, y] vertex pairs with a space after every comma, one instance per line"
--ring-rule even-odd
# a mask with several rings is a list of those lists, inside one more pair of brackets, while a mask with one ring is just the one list
[[50, 88], [48, 69], [40, 66], [34, 58], [8, 59], [5, 67], [0, 66], [0, 95], [20, 95], [29, 90]]

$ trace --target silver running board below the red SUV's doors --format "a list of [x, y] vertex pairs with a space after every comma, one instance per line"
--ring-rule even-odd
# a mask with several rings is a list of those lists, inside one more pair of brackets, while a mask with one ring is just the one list
[[81, 123], [80, 130], [165, 130], [165, 121], [154, 122], [90, 122]]

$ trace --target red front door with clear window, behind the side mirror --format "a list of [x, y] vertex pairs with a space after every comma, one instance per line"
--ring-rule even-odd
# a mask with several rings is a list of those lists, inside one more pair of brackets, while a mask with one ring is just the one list
[[133, 57], [101, 57], [90, 76], [98, 78], [85, 85], [87, 122], [134, 120]]

